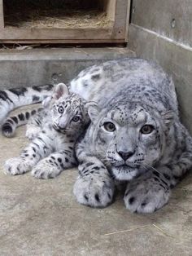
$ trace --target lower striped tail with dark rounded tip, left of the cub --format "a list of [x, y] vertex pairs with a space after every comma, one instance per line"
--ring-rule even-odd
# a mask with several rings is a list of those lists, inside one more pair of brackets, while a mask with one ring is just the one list
[[35, 114], [41, 112], [43, 108], [33, 109], [25, 113], [19, 113], [13, 117], [7, 117], [2, 125], [2, 135], [11, 138], [15, 135], [15, 130], [19, 126], [24, 126], [28, 123], [28, 119]]

